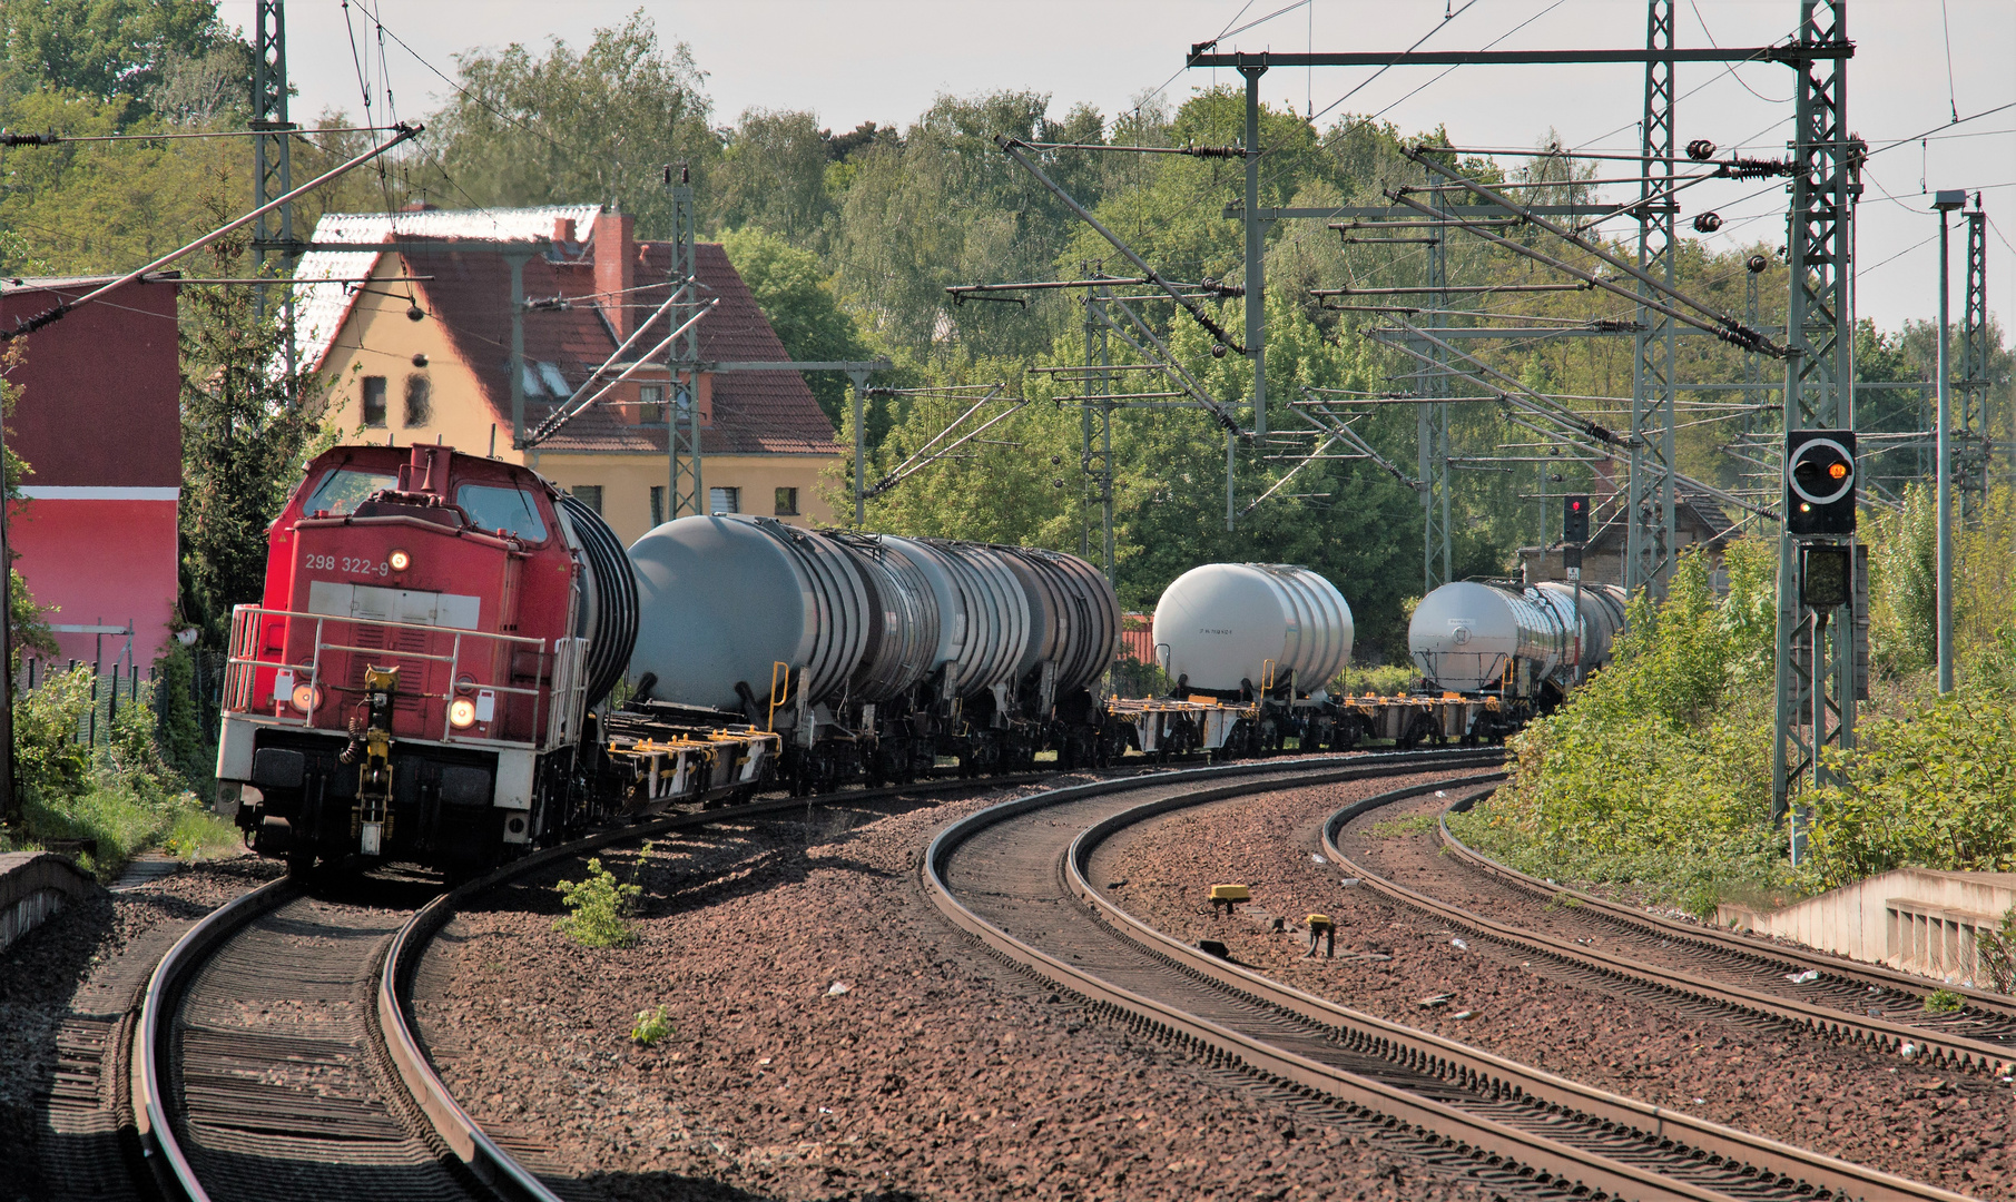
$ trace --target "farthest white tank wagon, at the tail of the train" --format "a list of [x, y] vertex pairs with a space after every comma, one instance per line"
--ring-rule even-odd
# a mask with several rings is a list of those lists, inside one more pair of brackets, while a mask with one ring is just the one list
[[1415, 605], [1407, 649], [1433, 686], [1546, 706], [1609, 662], [1623, 619], [1615, 585], [1583, 585], [1577, 615], [1574, 585], [1458, 581]]

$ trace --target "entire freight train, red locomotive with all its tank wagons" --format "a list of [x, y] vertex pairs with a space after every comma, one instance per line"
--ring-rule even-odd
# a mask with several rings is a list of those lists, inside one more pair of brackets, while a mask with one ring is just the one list
[[1099, 698], [1111, 583], [1028, 547], [716, 514], [623, 549], [536, 472], [446, 446], [319, 456], [232, 615], [218, 809], [294, 869], [454, 873], [609, 813], [778, 783], [1347, 750], [1516, 730], [1609, 657], [1605, 585], [1460, 583], [1413, 613], [1423, 690], [1333, 696], [1351, 605], [1292, 565], [1218, 563], [1155, 609], [1163, 698]]

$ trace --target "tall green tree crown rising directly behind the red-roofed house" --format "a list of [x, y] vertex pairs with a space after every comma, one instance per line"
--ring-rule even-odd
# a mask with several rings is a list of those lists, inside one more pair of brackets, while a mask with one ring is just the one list
[[641, 8], [579, 52], [558, 38], [544, 56], [512, 42], [456, 65], [460, 91], [431, 133], [442, 151], [417, 179], [466, 204], [613, 204], [637, 214], [641, 236], [665, 238], [663, 167], [689, 163], [704, 186], [720, 157], [704, 73], [685, 42], [659, 44]]

